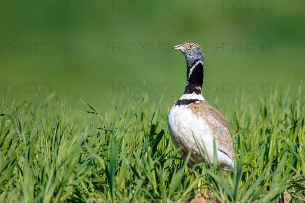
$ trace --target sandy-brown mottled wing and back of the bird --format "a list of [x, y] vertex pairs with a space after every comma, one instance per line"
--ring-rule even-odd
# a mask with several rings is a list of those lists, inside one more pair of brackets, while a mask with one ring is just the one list
[[234, 155], [233, 142], [227, 122], [221, 112], [205, 100], [191, 104], [188, 108], [208, 124], [206, 127], [213, 132], [218, 149], [232, 159]]

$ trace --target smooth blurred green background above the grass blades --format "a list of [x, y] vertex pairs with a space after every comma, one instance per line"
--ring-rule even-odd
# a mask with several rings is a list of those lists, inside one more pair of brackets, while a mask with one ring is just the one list
[[184, 92], [185, 41], [204, 51], [203, 96], [230, 106], [304, 82], [304, 1], [1, 1], [1, 98], [72, 94], [95, 107], [133, 93], [169, 108]]

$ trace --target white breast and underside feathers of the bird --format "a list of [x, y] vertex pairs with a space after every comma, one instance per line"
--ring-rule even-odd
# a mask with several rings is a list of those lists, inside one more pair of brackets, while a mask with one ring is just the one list
[[[183, 159], [186, 159], [188, 153], [191, 152], [191, 156], [195, 160], [203, 157], [206, 162], [213, 163], [212, 131], [204, 119], [196, 117], [187, 105], [173, 106], [170, 109], [168, 128], [174, 146], [184, 148], [183, 151], [180, 151]], [[219, 150], [217, 150], [217, 157], [220, 164], [234, 168], [232, 160]]]

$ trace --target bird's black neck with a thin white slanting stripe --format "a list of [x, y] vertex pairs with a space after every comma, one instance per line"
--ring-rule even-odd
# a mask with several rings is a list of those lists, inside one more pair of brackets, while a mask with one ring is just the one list
[[187, 63], [187, 85], [184, 94], [201, 95], [203, 83], [203, 60]]

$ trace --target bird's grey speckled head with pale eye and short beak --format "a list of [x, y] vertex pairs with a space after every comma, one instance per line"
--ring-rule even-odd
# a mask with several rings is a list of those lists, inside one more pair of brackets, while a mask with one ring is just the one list
[[201, 46], [195, 42], [185, 42], [173, 46], [172, 49], [180, 50], [186, 56], [187, 62], [203, 61]]

